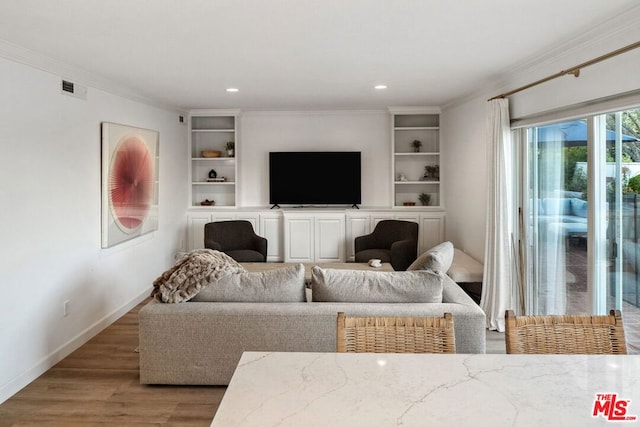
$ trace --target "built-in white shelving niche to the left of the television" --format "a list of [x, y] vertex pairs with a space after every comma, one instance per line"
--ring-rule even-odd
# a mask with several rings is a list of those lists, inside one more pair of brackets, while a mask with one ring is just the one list
[[[191, 206], [213, 200], [215, 205], [205, 207], [235, 207], [237, 199], [237, 138], [238, 111], [193, 111], [190, 115]], [[227, 154], [227, 142], [234, 143], [233, 157]], [[204, 157], [203, 151], [219, 151], [220, 157]], [[223, 182], [209, 180], [215, 171]]]

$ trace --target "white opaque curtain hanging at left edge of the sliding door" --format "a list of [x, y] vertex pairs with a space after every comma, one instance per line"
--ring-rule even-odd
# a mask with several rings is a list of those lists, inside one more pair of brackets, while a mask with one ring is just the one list
[[487, 315], [487, 327], [503, 332], [504, 313], [513, 308], [511, 296], [515, 286], [509, 100], [489, 101], [487, 113], [487, 228], [480, 307]]

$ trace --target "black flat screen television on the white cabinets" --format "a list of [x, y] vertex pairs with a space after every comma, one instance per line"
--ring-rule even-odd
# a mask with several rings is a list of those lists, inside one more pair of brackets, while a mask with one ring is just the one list
[[353, 205], [361, 201], [360, 152], [269, 153], [269, 203]]

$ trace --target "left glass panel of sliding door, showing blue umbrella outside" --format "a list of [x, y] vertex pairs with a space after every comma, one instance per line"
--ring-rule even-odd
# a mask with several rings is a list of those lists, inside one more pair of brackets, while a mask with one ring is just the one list
[[587, 300], [587, 124], [530, 128], [527, 140], [527, 311], [577, 314]]

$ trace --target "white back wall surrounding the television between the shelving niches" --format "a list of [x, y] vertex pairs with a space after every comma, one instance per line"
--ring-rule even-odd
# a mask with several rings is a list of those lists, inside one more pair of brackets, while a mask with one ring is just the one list
[[[362, 206], [390, 207], [388, 111], [246, 112], [240, 117], [239, 206], [269, 206], [270, 151], [360, 151]], [[331, 165], [327, 165], [331, 173]], [[295, 177], [291, 177], [295, 179]]]

